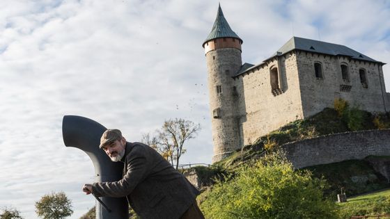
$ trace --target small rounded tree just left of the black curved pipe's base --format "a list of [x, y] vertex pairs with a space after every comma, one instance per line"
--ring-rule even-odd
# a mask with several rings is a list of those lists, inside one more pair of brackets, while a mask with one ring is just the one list
[[43, 195], [36, 202], [36, 213], [43, 219], [66, 218], [73, 213], [72, 203], [63, 192]]

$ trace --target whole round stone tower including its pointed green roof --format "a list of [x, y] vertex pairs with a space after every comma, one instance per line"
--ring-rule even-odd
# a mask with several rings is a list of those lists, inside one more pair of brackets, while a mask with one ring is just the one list
[[241, 147], [232, 78], [242, 65], [241, 44], [242, 40], [232, 31], [219, 6], [212, 30], [202, 44], [208, 66], [213, 162]]

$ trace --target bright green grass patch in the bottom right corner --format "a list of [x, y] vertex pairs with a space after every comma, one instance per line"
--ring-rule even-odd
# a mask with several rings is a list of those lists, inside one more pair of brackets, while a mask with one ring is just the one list
[[390, 189], [351, 198], [347, 197], [347, 200], [348, 202], [338, 204], [340, 218], [390, 214]]

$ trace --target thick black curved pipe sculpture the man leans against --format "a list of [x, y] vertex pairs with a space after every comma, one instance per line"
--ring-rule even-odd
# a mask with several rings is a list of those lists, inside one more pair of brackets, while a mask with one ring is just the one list
[[[77, 147], [91, 158], [95, 167], [96, 181], [118, 181], [122, 179], [123, 163], [112, 162], [107, 154], [99, 149], [100, 136], [107, 128], [86, 117], [65, 115], [62, 122], [63, 143], [67, 147]], [[81, 190], [80, 185], [80, 190]], [[125, 219], [129, 210], [125, 197], [101, 197], [111, 212], [96, 202], [96, 218]]]

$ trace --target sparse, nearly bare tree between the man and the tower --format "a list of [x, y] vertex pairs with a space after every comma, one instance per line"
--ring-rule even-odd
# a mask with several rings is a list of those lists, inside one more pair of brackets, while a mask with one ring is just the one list
[[185, 142], [195, 138], [199, 130], [201, 130], [200, 124], [178, 118], [170, 119], [166, 120], [162, 128], [157, 130], [157, 136], [151, 137], [150, 134], [146, 134], [143, 135], [141, 141], [155, 148], [177, 170], [180, 157], [186, 152], [183, 147]]

